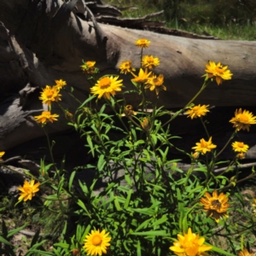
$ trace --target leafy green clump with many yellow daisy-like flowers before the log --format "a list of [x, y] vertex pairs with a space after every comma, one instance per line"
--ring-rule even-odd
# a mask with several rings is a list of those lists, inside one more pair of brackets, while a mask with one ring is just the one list
[[[95, 61], [84, 61], [81, 68], [92, 86], [90, 96], [80, 102], [75, 113], [61, 107], [61, 90], [73, 96], [73, 88], [66, 81], [55, 80], [54, 86], [46, 85], [41, 92], [39, 99], [49, 109], [34, 118], [45, 131], [52, 163], [45, 166], [42, 157], [40, 176], [26, 173], [27, 180], [18, 188], [17, 204], [35, 201], [39, 196], [44, 209], [56, 214], [62, 212], [69, 218], [53, 247], [45, 249], [48, 240], [40, 239], [37, 234], [26, 255], [253, 255], [253, 240], [247, 237], [253, 237], [255, 232], [255, 200], [250, 203], [251, 212], [239, 210], [242, 223], [234, 225], [229, 217], [237, 211], [232, 207], [230, 195], [241, 200], [236, 185], [256, 177], [252, 170], [247, 177], [240, 178], [238, 166], [249, 147], [234, 141], [234, 137], [241, 130], [249, 131], [250, 125], [256, 124], [256, 117], [245, 109], [236, 109], [235, 116], [230, 117], [234, 132], [224, 148], [218, 148], [204, 121], [210, 114], [209, 105], [193, 103], [207, 86], [224, 86], [224, 81], [232, 79], [233, 74], [228, 66], [209, 61], [201, 89], [186, 106], [172, 113], [160, 104], [161, 94], [168, 90], [164, 76], [157, 74], [160, 59], [144, 55], [151, 42], [141, 38], [135, 44], [141, 53], [140, 69], [135, 70], [129, 60], [119, 67], [120, 73], [131, 76], [132, 90], [125, 90], [119, 75], [101, 77]], [[126, 102], [129, 94], [140, 100], [138, 106]], [[154, 94], [154, 102], [148, 101], [148, 94]], [[95, 106], [92, 102], [96, 102], [95, 108], [91, 107]], [[79, 188], [74, 186], [76, 171], [67, 176], [64, 161], [57, 168], [47, 132], [48, 123], [59, 118], [51, 112], [52, 104], [61, 108], [67, 124], [86, 138], [85, 147], [96, 158], [96, 165], [84, 166], [83, 172], [86, 168], [95, 170], [90, 185], [79, 180]], [[176, 138], [172, 135], [172, 121], [181, 113], [187, 114], [191, 122], [201, 119], [206, 131], [191, 152], [183, 152], [191, 160], [188, 171], [179, 169], [180, 160], [169, 154]], [[165, 123], [161, 121], [163, 116], [168, 117]], [[114, 118], [119, 119], [120, 125]], [[123, 137], [113, 140], [109, 134], [115, 131]], [[220, 160], [227, 147], [234, 150], [233, 160]], [[214, 172], [222, 164], [226, 164], [223, 172]], [[55, 169], [53, 175], [49, 169]], [[233, 172], [234, 176], [229, 179], [225, 176], [227, 172]], [[96, 182], [102, 178], [108, 180], [108, 186], [96, 194]], [[38, 195], [44, 188], [52, 191], [50, 195]], [[8, 230], [3, 222], [1, 253], [15, 255], [18, 248], [9, 239], [19, 230]], [[217, 241], [211, 240], [218, 231], [227, 231], [225, 236], [229, 241], [241, 242], [218, 247]]]

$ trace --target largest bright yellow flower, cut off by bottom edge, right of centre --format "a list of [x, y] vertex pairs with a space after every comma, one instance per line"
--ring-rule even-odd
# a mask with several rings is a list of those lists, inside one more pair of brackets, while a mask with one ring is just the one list
[[184, 233], [184, 236], [178, 234], [177, 241], [173, 242], [173, 246], [170, 250], [179, 256], [199, 256], [205, 255], [206, 251], [211, 250], [211, 246], [203, 244], [205, 242], [204, 237], [199, 237], [199, 234], [192, 233], [191, 228], [188, 230], [188, 234]]

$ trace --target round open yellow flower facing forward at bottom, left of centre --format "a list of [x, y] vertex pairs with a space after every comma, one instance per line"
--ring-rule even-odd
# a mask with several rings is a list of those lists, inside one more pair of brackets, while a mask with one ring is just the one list
[[84, 249], [87, 255], [96, 256], [107, 253], [107, 247], [110, 246], [109, 241], [111, 241], [111, 237], [108, 235], [109, 233], [106, 233], [106, 230], [102, 230], [101, 233], [99, 230], [91, 230], [84, 240]]

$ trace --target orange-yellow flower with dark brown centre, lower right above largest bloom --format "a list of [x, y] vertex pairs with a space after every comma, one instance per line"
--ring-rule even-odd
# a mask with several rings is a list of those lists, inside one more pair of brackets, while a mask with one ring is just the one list
[[206, 192], [205, 196], [207, 198], [201, 198], [201, 204], [204, 206], [204, 210], [207, 212], [207, 217], [212, 217], [218, 223], [219, 218], [225, 216], [228, 218], [227, 209], [230, 207], [230, 204], [227, 203], [229, 198], [224, 195], [224, 193], [220, 193], [216, 190], [213, 191], [212, 196]]

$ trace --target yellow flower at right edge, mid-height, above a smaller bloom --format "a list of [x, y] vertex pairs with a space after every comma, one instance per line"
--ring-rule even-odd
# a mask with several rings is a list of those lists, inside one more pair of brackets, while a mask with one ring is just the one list
[[235, 112], [235, 117], [230, 119], [230, 123], [234, 124], [233, 127], [236, 127], [237, 131], [247, 130], [249, 131], [250, 125], [256, 124], [256, 117], [253, 116], [253, 113], [250, 113], [247, 110], [241, 111], [241, 108]]

